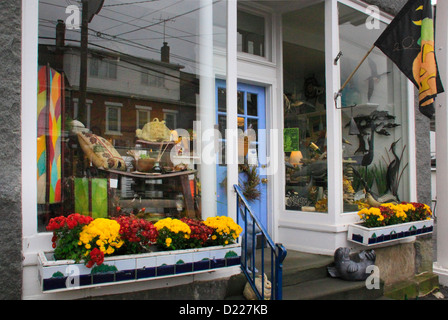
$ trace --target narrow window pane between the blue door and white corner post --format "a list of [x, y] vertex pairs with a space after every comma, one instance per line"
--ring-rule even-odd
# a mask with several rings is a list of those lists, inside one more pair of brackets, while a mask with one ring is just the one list
[[285, 205], [327, 212], [324, 2], [282, 19]]

